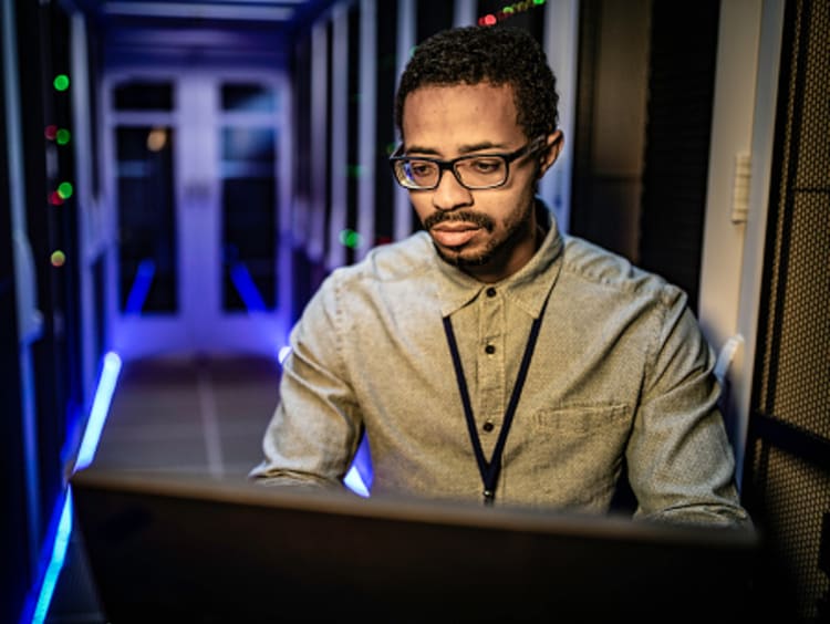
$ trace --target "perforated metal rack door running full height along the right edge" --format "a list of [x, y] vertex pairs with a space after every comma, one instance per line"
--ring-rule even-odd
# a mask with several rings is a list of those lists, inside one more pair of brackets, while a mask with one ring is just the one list
[[781, 581], [767, 586], [791, 601], [793, 622], [826, 622], [830, 582], [819, 553], [830, 513], [830, 2], [787, 4], [778, 105], [748, 475]]

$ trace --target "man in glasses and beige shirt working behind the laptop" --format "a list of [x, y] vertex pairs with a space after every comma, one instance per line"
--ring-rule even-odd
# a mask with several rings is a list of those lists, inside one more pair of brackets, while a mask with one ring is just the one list
[[526, 31], [415, 50], [391, 163], [424, 231], [315, 293], [252, 477], [340, 485], [365, 430], [372, 496], [606, 513], [626, 467], [635, 518], [749, 522], [686, 297], [564, 236], [536, 198], [557, 101]]

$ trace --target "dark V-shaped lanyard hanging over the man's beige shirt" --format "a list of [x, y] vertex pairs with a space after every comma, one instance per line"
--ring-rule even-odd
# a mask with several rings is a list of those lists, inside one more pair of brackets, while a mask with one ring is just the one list
[[453, 332], [453, 322], [449, 316], [445, 316], [444, 332], [447, 334], [447, 345], [449, 346], [449, 353], [453, 356], [453, 365], [455, 366], [456, 382], [458, 383], [458, 392], [461, 395], [461, 403], [464, 404], [464, 416], [467, 419], [467, 430], [469, 431], [470, 441], [473, 443], [473, 450], [476, 454], [476, 460], [478, 461], [478, 471], [481, 475], [481, 481], [484, 482], [484, 501], [485, 505], [492, 505], [496, 498], [496, 485], [499, 478], [499, 471], [501, 470], [501, 454], [505, 450], [505, 443], [507, 441], [507, 434], [510, 431], [510, 425], [512, 424], [513, 414], [516, 414], [516, 407], [519, 404], [519, 397], [521, 396], [521, 388], [525, 386], [525, 378], [528, 375], [528, 368], [530, 367], [530, 358], [533, 355], [533, 347], [536, 346], [536, 340], [539, 337], [539, 329], [542, 325], [542, 318], [544, 316], [544, 308], [547, 306], [547, 300], [542, 306], [539, 316], [533, 319], [533, 324], [530, 327], [530, 335], [528, 336], [528, 343], [525, 346], [525, 355], [521, 358], [521, 366], [519, 367], [519, 374], [516, 377], [516, 384], [513, 385], [513, 392], [510, 395], [510, 403], [507, 405], [507, 412], [505, 412], [505, 420], [501, 424], [501, 430], [499, 431], [496, 447], [492, 449], [492, 456], [490, 460], [484, 456], [481, 449], [481, 440], [478, 437], [476, 429], [476, 419], [473, 415], [473, 405], [469, 401], [469, 391], [467, 389], [467, 379], [464, 375], [464, 367], [461, 366], [461, 356], [458, 353], [458, 344], [455, 340], [455, 332]]

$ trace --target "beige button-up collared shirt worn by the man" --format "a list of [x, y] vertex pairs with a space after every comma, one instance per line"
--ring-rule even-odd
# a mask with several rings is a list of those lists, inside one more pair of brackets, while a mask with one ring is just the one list
[[480, 501], [443, 318], [489, 459], [543, 311], [497, 503], [605, 513], [625, 466], [635, 517], [748, 522], [712, 349], [685, 294], [560, 233], [552, 217], [550, 226], [533, 258], [498, 283], [443, 261], [426, 232], [333, 271], [292, 331], [266, 459], [251, 477], [340, 483], [365, 430], [372, 496]]

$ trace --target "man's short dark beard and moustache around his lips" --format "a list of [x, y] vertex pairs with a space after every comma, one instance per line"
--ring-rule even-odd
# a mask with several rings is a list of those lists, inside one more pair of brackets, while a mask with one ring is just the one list
[[489, 215], [474, 212], [470, 210], [458, 210], [450, 212], [436, 211], [424, 219], [424, 229], [429, 231], [434, 226], [452, 221], [465, 221], [475, 223], [485, 229], [489, 236], [485, 247], [479, 250], [465, 250], [465, 246], [454, 248], [442, 248], [433, 242], [438, 257], [459, 269], [465, 267], [484, 267], [494, 261], [506, 261], [518, 241], [523, 239], [531, 230], [535, 202], [528, 201], [523, 209], [516, 210], [502, 222], [501, 232], [496, 231], [496, 222]]

